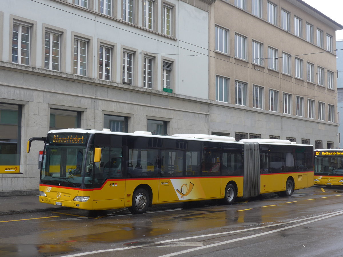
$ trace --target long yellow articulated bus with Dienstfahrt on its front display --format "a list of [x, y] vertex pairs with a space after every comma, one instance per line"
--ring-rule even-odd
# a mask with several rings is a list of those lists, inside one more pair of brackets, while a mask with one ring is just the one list
[[34, 140], [45, 143], [39, 201], [79, 209], [138, 214], [153, 204], [232, 204], [314, 183], [313, 147], [289, 140], [64, 129], [29, 139], [27, 152]]

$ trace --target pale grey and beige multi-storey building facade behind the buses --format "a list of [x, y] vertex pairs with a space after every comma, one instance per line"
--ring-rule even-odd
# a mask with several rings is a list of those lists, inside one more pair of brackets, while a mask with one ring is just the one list
[[337, 29], [300, 0], [4, 0], [0, 191], [38, 190], [26, 142], [59, 128], [337, 147]]

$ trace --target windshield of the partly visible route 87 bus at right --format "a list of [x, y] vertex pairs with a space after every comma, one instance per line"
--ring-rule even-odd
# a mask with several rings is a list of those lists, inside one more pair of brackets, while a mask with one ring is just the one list
[[343, 175], [343, 157], [316, 156], [315, 175]]

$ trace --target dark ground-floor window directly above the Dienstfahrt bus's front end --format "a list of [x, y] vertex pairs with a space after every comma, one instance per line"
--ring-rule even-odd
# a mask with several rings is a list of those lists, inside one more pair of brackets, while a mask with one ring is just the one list
[[50, 109], [50, 130], [80, 127], [80, 112]]

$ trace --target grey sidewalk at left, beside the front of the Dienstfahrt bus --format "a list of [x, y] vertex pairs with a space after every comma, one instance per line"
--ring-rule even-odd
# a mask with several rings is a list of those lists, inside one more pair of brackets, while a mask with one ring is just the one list
[[0, 197], [0, 216], [66, 209], [70, 208], [40, 203], [37, 195]]

